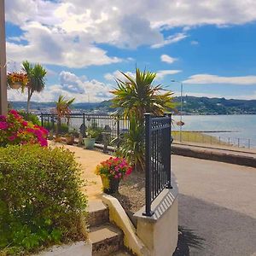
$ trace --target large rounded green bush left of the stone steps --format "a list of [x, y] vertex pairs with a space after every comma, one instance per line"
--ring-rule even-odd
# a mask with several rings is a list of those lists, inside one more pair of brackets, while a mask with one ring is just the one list
[[65, 148], [0, 148], [0, 255], [84, 239], [83, 185]]

